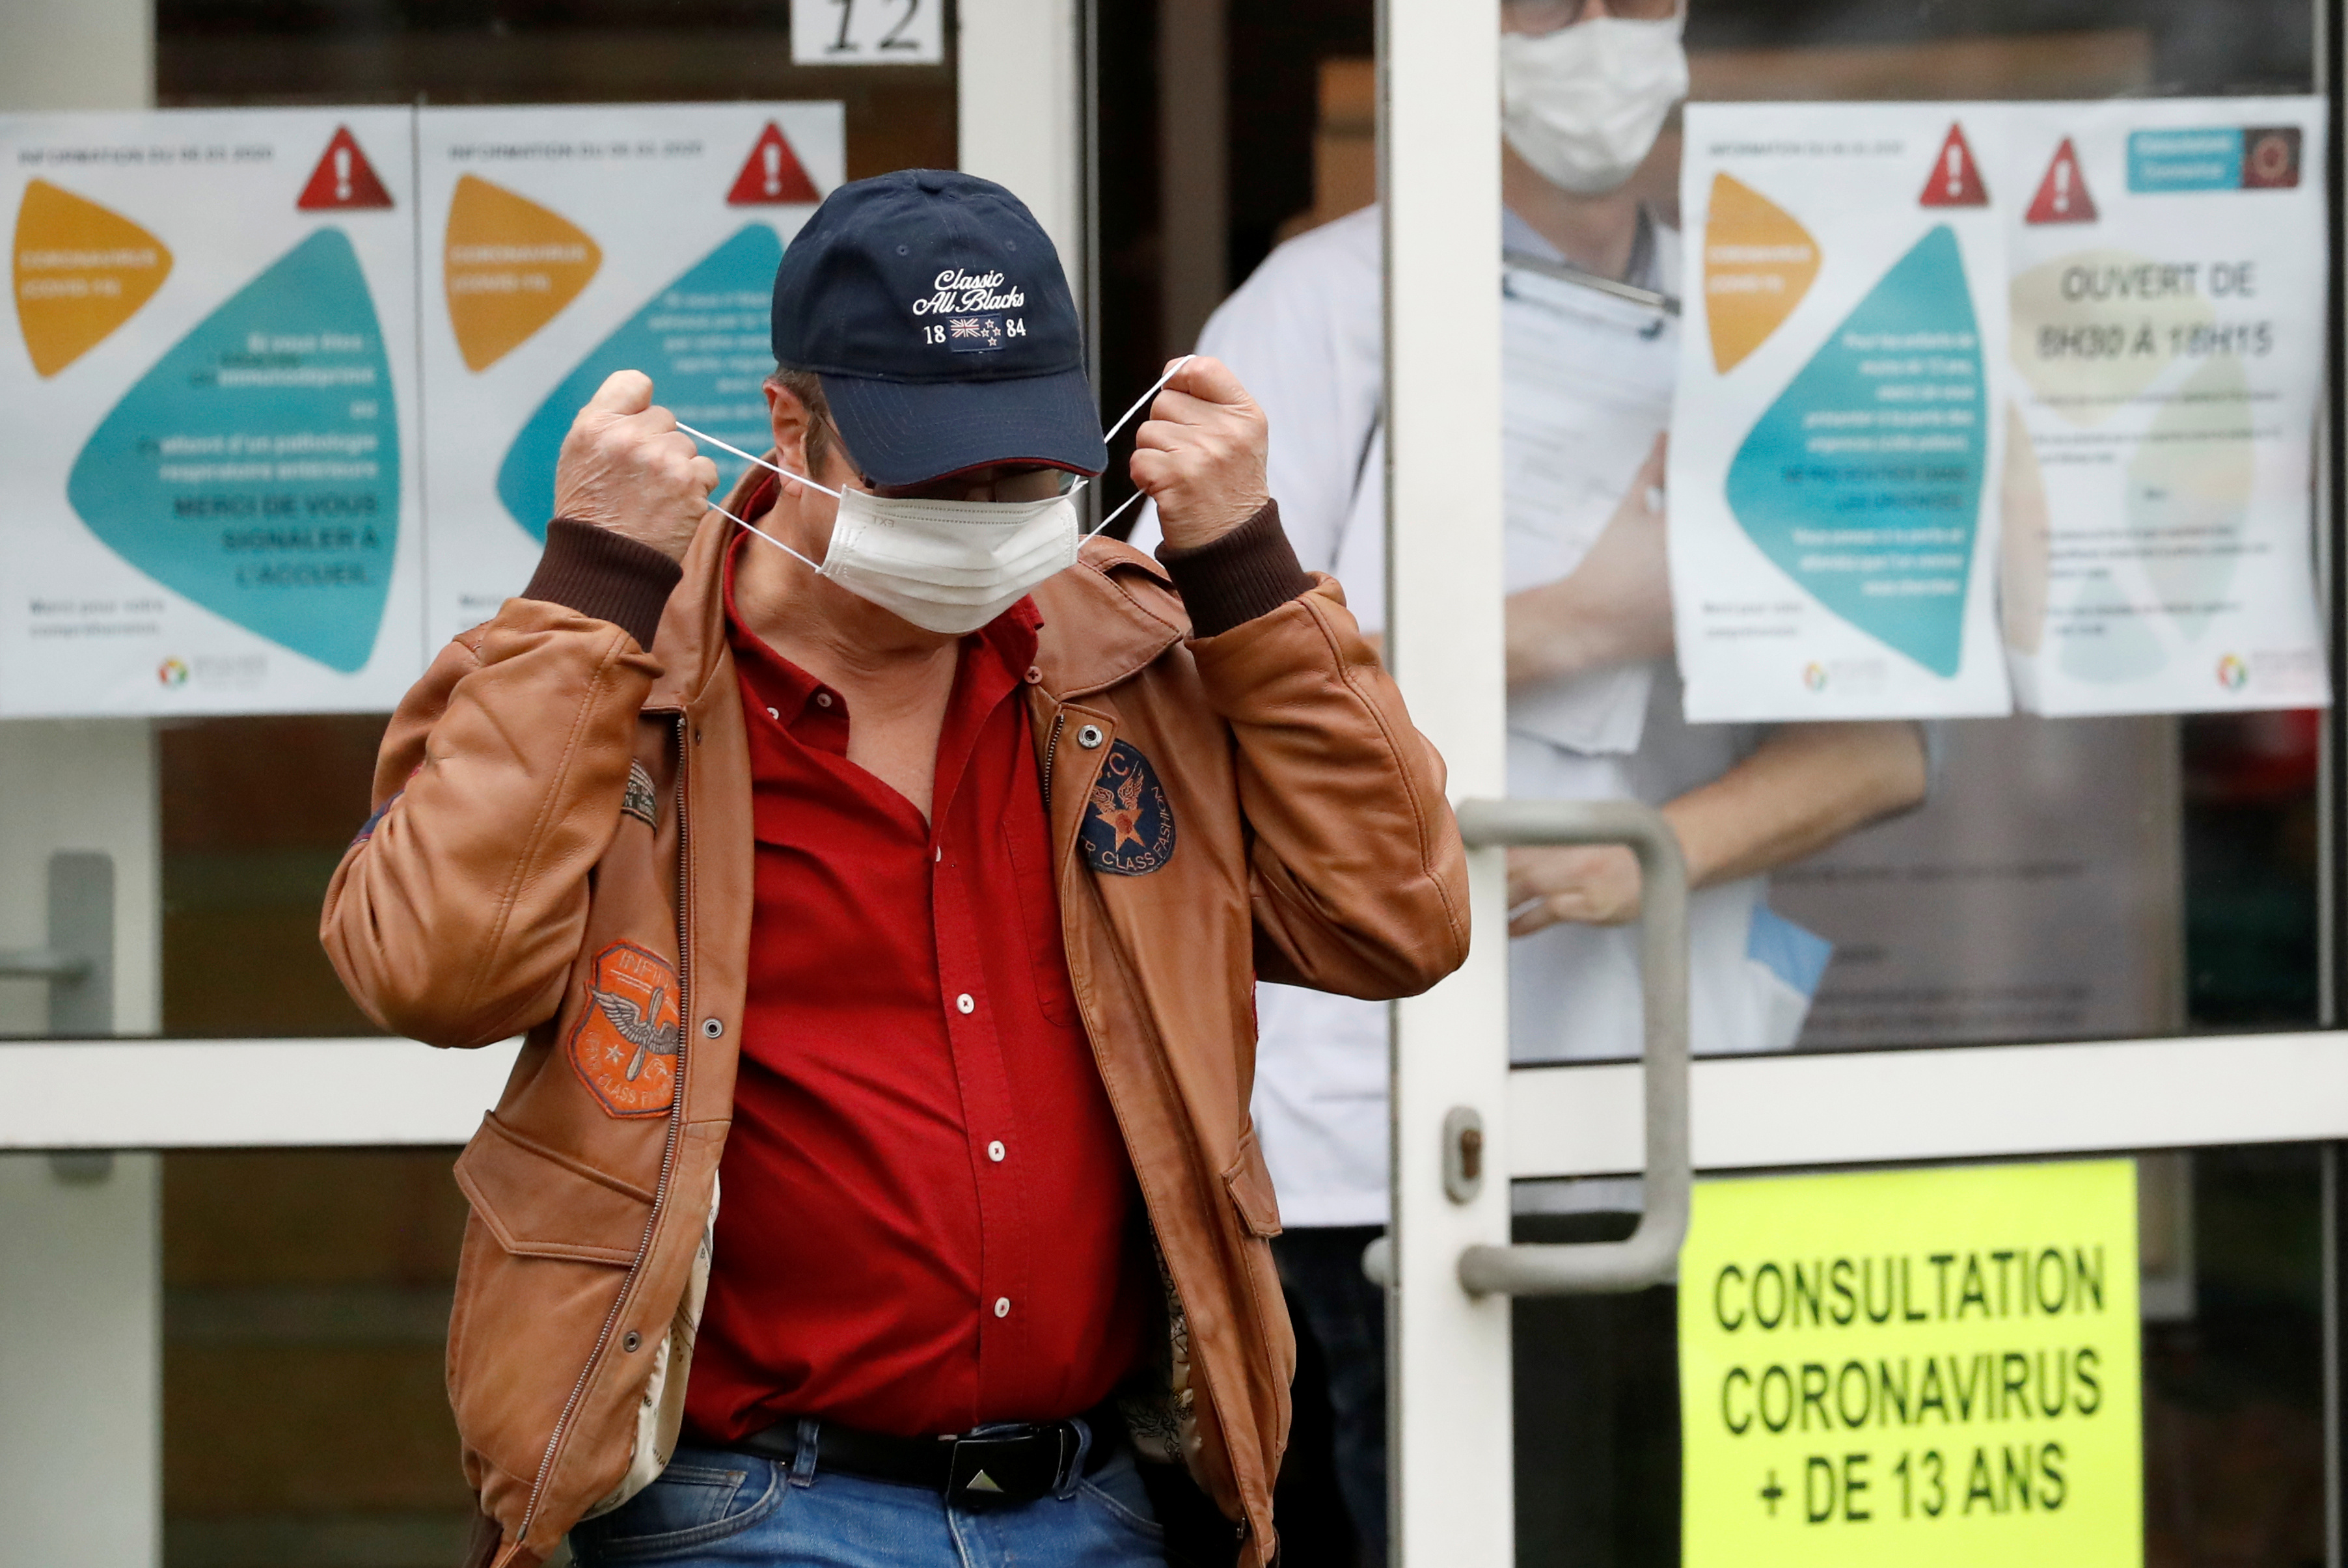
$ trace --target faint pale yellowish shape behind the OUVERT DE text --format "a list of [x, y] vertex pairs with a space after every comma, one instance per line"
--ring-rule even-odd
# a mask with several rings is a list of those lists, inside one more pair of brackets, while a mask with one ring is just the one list
[[2073, 251], [2015, 279], [2012, 359], [2038, 399], [2094, 430], [2170, 366], [2179, 333], [2217, 317], [2191, 270], [2132, 251]]

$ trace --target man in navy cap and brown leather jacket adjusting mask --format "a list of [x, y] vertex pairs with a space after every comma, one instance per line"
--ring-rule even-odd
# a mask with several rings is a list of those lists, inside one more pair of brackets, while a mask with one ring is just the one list
[[1165, 566], [1078, 559], [1106, 448], [1000, 185], [843, 185], [772, 326], [775, 446], [721, 509], [603, 383], [326, 899], [385, 1028], [526, 1033], [458, 1160], [477, 1561], [1158, 1563], [1143, 1458], [1270, 1563], [1251, 976], [1460, 962], [1442, 763], [1219, 364], [1136, 439]]

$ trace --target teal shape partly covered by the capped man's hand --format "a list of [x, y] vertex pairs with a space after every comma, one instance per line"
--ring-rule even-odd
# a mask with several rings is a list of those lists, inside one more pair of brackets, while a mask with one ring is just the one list
[[[768, 322], [780, 261], [782, 239], [775, 230], [744, 223], [596, 343], [547, 394], [498, 467], [498, 500], [533, 540], [542, 545], [547, 538], [554, 460], [571, 434], [571, 420], [613, 371], [643, 371], [653, 378], [653, 401], [721, 441], [751, 453], [775, 444], [758, 387], [775, 369]], [[716, 448], [704, 448], [704, 455], [718, 465], [721, 493], [747, 467]]]

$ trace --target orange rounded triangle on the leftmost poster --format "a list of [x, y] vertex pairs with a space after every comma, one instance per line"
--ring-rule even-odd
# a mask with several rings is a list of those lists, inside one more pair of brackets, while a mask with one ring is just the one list
[[49, 181], [16, 209], [16, 326], [33, 369], [56, 376], [139, 315], [171, 275], [171, 251], [122, 214]]

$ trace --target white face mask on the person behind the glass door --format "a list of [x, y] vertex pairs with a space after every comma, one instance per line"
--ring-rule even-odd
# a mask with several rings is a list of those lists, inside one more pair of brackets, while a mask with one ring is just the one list
[[1627, 181], [1665, 115], [1688, 96], [1688, 52], [1669, 21], [1592, 16], [1529, 38], [1500, 35], [1500, 131], [1517, 157], [1576, 195]]

